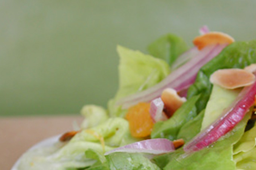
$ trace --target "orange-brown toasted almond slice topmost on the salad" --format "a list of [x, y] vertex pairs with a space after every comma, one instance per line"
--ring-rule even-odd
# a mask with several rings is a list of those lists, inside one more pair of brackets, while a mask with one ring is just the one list
[[199, 50], [203, 49], [207, 45], [213, 44], [231, 44], [235, 40], [228, 34], [221, 32], [210, 32], [201, 36], [195, 37], [193, 43]]

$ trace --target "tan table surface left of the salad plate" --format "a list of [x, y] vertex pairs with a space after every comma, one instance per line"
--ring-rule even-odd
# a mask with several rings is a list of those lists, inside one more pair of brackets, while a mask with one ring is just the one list
[[32, 145], [57, 134], [73, 130], [82, 116], [0, 117], [0, 169], [10, 170], [15, 161]]

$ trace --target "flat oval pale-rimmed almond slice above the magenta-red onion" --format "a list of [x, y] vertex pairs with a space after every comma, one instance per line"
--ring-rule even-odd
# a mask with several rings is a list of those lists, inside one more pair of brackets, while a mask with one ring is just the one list
[[226, 89], [235, 89], [253, 84], [255, 76], [243, 69], [222, 69], [217, 70], [210, 76], [212, 84], [219, 85]]

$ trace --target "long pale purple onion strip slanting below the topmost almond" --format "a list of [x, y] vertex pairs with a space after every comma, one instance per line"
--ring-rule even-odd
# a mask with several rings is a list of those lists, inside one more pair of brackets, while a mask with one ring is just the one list
[[121, 98], [116, 105], [122, 105], [123, 109], [127, 109], [139, 102], [150, 102], [160, 97], [163, 89], [173, 88], [177, 92], [187, 89], [194, 83], [199, 69], [207, 62], [218, 55], [227, 45], [211, 45], [203, 48], [197, 56], [189, 60], [186, 64], [174, 70], [163, 81], [157, 85], [148, 88], [142, 92]]

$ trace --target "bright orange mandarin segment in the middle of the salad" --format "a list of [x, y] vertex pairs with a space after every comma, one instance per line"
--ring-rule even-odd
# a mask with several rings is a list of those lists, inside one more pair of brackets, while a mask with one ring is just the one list
[[154, 123], [151, 119], [149, 109], [150, 103], [138, 103], [128, 109], [126, 119], [129, 122], [132, 136], [146, 137], [151, 134]]

